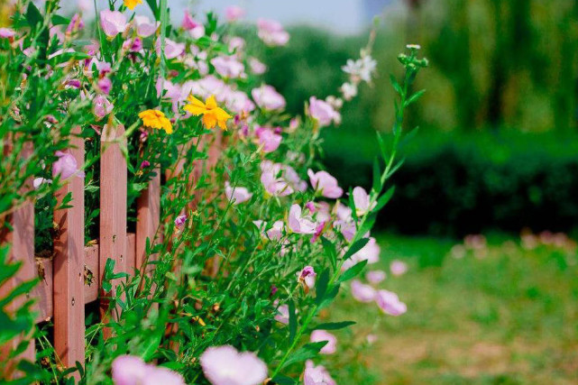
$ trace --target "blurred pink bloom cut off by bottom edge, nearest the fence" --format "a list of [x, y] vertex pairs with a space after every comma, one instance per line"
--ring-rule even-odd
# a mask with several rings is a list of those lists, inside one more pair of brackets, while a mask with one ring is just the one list
[[179, 373], [146, 364], [141, 357], [133, 355], [116, 357], [112, 369], [115, 385], [185, 385]]

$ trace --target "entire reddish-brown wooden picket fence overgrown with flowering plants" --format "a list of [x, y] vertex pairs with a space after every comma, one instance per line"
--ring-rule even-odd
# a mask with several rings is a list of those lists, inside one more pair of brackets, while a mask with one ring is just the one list
[[[77, 128], [79, 131], [79, 127]], [[77, 133], [78, 133], [77, 131]], [[101, 316], [104, 316], [108, 303], [103, 298], [101, 279], [106, 260], [115, 260], [115, 272], [133, 272], [140, 268], [145, 259], [147, 239], [154, 242], [154, 236], [161, 219], [161, 175], [149, 182], [148, 188], [142, 191], [137, 200], [137, 225], [135, 234], [126, 231], [126, 198], [127, 198], [127, 167], [121, 142], [124, 127], [105, 127], [101, 136], [100, 159], [100, 234], [97, 243], [85, 246], [84, 224], [84, 179], [71, 177], [57, 194], [59, 202], [71, 194], [71, 207], [54, 212], [55, 223], [58, 224], [58, 234], [54, 240], [54, 258], [39, 259], [34, 257], [34, 206], [26, 203], [19, 207], [9, 217], [13, 232], [5, 234], [2, 243], [12, 243], [11, 261], [23, 261], [23, 268], [17, 277], [5, 284], [0, 291], [4, 296], [23, 280], [32, 280], [39, 270], [44, 271], [41, 282], [29, 293], [28, 298], [35, 298], [37, 322], [51, 319], [54, 325], [54, 347], [60, 361], [66, 367], [71, 367], [85, 359], [85, 305], [100, 300]], [[219, 142], [220, 135], [217, 135]], [[71, 139], [69, 153], [77, 160], [78, 165], [84, 164], [84, 142], [75, 136]], [[216, 160], [218, 144], [211, 146], [209, 163]], [[22, 156], [28, 156], [32, 149], [23, 151]], [[26, 188], [32, 188], [32, 180]], [[40, 264], [41, 266], [38, 266]], [[85, 282], [85, 272], [94, 274], [92, 284]], [[118, 284], [118, 282], [116, 282]], [[114, 287], [115, 285], [113, 285]], [[14, 302], [13, 307], [22, 304]], [[105, 332], [106, 336], [106, 332]], [[10, 344], [2, 347], [15, 347], [30, 337], [22, 335]], [[34, 343], [28, 345], [23, 358], [34, 361]], [[14, 369], [14, 368], [13, 368]], [[6, 375], [6, 373], [3, 373]], [[16, 373], [17, 376], [17, 373]]]

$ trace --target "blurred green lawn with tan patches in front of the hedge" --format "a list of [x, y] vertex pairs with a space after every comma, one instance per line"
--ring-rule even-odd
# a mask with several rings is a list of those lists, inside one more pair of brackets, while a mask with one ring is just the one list
[[[381, 262], [372, 268], [388, 272], [379, 286], [408, 312], [382, 315], [344, 290], [325, 315], [357, 322], [335, 332], [342, 353], [327, 366], [338, 383], [578, 383], [575, 243], [547, 234], [525, 243], [494, 235], [477, 248], [389, 234], [378, 242]], [[389, 270], [396, 259], [409, 267], [398, 277]]]

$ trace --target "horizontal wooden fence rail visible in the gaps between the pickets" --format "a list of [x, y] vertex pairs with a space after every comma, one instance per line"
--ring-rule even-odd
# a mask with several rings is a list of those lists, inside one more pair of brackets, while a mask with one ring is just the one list
[[[134, 234], [127, 234], [126, 244], [128, 250], [126, 252], [127, 258], [134, 259]], [[87, 246], [84, 248], [84, 263], [87, 272], [92, 273], [92, 282], [84, 284], [84, 298], [85, 304], [96, 301], [98, 299], [99, 289], [100, 289], [100, 271], [98, 270], [98, 244], [92, 246]], [[52, 261], [47, 259], [41, 259], [37, 262], [37, 265], [41, 265], [41, 270], [45, 271], [45, 277], [41, 280], [41, 283], [34, 288], [33, 296], [39, 298], [37, 304], [37, 311], [39, 316], [36, 322], [48, 321], [52, 317], [52, 288], [54, 287], [52, 281]]]

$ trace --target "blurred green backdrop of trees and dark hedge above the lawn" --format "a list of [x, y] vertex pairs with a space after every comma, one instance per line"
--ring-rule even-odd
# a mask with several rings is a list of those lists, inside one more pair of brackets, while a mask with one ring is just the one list
[[[406, 127], [420, 132], [380, 224], [460, 235], [578, 224], [578, 2], [402, 4], [386, 9], [378, 31], [374, 84], [324, 132], [327, 170], [345, 188], [371, 187], [374, 132], [389, 131], [393, 116], [389, 75], [401, 76], [398, 53], [418, 43], [430, 66], [415, 87], [427, 92]], [[366, 40], [295, 28], [286, 48], [268, 51], [265, 80], [287, 97], [289, 112], [302, 113], [308, 96], [338, 93], [341, 66]]]

